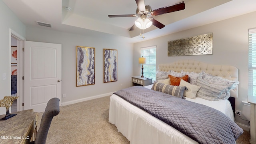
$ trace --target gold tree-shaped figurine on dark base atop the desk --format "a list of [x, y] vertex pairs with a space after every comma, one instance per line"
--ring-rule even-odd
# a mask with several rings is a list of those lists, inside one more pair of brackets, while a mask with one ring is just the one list
[[9, 108], [12, 106], [12, 103], [14, 100], [16, 100], [18, 96], [4, 96], [4, 99], [0, 100], [0, 107], [6, 108], [6, 115], [0, 119], [0, 120], [7, 120], [8, 118], [11, 118], [13, 116], [16, 116], [17, 114], [10, 114]]

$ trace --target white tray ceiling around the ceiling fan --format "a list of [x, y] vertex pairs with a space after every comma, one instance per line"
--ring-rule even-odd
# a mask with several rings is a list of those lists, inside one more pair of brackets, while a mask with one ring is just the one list
[[[3, 0], [26, 26], [38, 26], [36, 21], [52, 25], [40, 28], [92, 34], [95, 31], [122, 36], [130, 42], [149, 40], [174, 32], [202, 26], [256, 11], [256, 0], [184, 0], [186, 8], [178, 12], [155, 16], [166, 25], [144, 31], [129, 31], [138, 17], [108, 18], [113, 14], [136, 14], [135, 0]], [[152, 10], [171, 6], [180, 0], [145, 0]], [[65, 7], [72, 10], [67, 11]], [[98, 33], [100, 34], [100, 33]]]

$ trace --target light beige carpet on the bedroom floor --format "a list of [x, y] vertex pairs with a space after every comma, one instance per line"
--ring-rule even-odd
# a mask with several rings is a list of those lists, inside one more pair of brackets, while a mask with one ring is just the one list
[[[52, 120], [47, 144], [130, 144], [108, 122], [109, 98], [106, 96], [77, 104], [62, 106]], [[38, 126], [43, 113], [39, 113]], [[244, 132], [237, 144], [249, 144], [250, 134]]]

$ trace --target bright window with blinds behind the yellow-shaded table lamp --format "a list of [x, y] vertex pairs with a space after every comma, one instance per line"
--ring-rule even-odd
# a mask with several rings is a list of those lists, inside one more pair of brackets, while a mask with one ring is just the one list
[[146, 78], [152, 78], [152, 81], [156, 80], [156, 46], [150, 46], [147, 48], [141, 48], [140, 55], [146, 58], [146, 64], [143, 64], [143, 75]]

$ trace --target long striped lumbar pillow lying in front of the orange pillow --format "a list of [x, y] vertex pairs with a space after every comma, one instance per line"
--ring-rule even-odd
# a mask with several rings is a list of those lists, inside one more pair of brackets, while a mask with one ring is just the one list
[[159, 92], [164, 92], [178, 98], [183, 98], [185, 88], [185, 86], [171, 86], [160, 82], [154, 82], [151, 89]]

